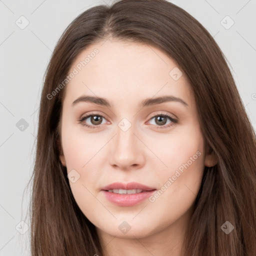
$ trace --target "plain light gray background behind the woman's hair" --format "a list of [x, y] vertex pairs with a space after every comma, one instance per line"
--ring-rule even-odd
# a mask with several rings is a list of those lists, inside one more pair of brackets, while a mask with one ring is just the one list
[[[51, 52], [78, 14], [104, 2], [111, 0], [0, 0], [0, 256], [29, 255], [25, 215], [30, 189], [25, 186], [32, 173], [40, 92]], [[256, 129], [256, 1], [171, 2], [214, 36]], [[21, 29], [26, 20], [29, 24]]]

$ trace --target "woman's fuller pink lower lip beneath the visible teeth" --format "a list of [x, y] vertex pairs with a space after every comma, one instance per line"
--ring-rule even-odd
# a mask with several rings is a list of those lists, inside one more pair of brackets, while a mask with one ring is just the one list
[[133, 206], [148, 198], [155, 190], [135, 194], [117, 194], [102, 190], [105, 197], [119, 206]]

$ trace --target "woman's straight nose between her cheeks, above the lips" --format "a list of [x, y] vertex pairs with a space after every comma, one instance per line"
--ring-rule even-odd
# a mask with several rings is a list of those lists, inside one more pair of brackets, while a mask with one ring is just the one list
[[139, 135], [134, 133], [133, 125], [126, 131], [117, 126], [109, 146], [109, 163], [115, 168], [138, 169], [144, 164], [145, 145], [140, 141]]

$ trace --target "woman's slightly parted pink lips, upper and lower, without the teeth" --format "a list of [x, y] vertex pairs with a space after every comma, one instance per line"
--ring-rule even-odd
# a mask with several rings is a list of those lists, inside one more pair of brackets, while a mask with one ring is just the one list
[[[142, 189], [143, 191], [135, 194], [117, 194], [106, 191], [109, 189]], [[148, 187], [136, 182], [130, 182], [127, 184], [115, 182], [102, 188], [102, 192], [104, 193], [105, 197], [110, 202], [117, 204], [119, 206], [136, 205], [145, 200], [146, 198], [148, 198], [154, 192], [154, 190], [155, 188]]]

